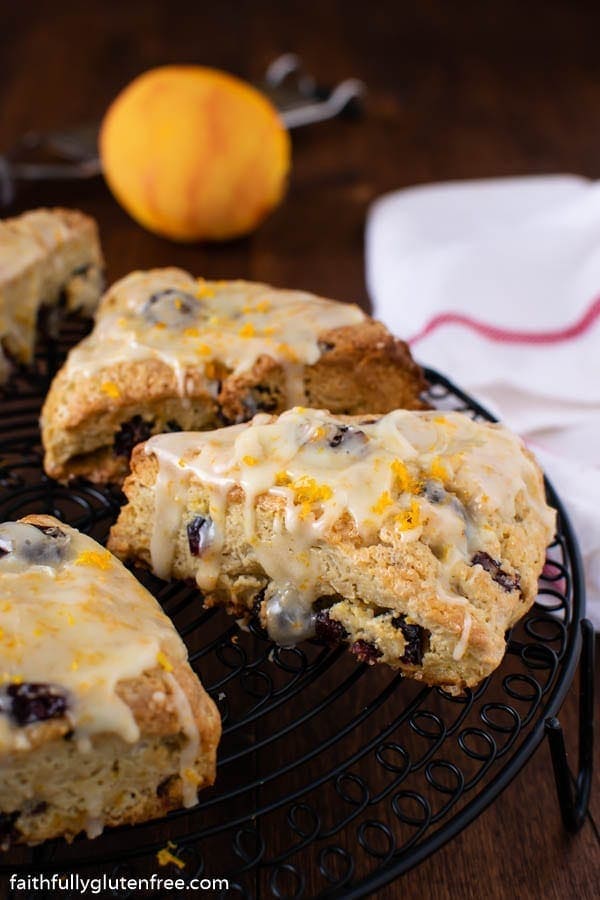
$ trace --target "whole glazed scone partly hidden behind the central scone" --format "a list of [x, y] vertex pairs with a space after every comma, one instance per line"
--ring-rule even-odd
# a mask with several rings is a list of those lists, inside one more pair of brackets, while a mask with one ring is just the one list
[[357, 306], [180, 269], [134, 272], [101, 301], [42, 412], [53, 478], [120, 481], [133, 446], [297, 404], [339, 413], [422, 408], [401, 341]]

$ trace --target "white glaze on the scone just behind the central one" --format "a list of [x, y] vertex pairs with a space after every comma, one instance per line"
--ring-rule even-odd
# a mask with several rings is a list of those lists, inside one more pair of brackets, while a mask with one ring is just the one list
[[[196, 313], [184, 316], [179, 327], [169, 311], [159, 323], [144, 315], [148, 299], [167, 290], [199, 301]], [[105, 295], [93, 332], [71, 351], [66, 371], [72, 377], [89, 377], [123, 360], [160, 359], [175, 373], [184, 395], [188, 369], [205, 371], [210, 384], [212, 360], [239, 374], [268, 355], [284, 369], [286, 403], [292, 405], [303, 396], [302, 367], [321, 355], [319, 335], [364, 319], [357, 306], [303, 291], [204, 281], [181, 269], [133, 272]]]

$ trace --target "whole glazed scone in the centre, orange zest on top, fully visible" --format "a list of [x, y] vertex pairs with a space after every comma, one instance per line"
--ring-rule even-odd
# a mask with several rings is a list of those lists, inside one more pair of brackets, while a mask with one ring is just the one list
[[460, 690], [501, 661], [532, 605], [555, 515], [500, 425], [460, 413], [380, 418], [297, 408], [132, 457], [109, 546], [270, 637], [346, 641]]

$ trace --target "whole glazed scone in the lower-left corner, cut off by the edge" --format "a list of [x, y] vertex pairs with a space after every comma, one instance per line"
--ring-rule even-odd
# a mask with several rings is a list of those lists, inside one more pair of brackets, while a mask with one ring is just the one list
[[0, 846], [196, 802], [220, 719], [154, 598], [49, 516], [0, 525]]

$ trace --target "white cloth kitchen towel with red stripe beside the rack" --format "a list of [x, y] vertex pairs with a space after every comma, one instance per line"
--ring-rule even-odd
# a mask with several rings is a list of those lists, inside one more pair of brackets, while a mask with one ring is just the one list
[[575, 527], [600, 628], [600, 183], [397, 191], [370, 210], [366, 267], [374, 315], [536, 453]]

